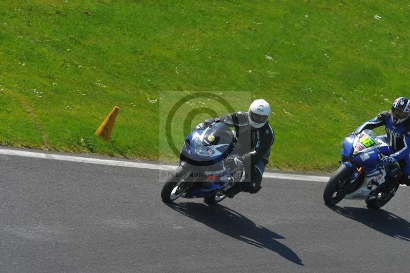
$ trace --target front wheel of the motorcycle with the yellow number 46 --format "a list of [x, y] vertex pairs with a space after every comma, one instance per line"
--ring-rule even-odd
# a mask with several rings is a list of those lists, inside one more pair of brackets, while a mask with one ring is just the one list
[[323, 201], [326, 205], [336, 205], [342, 201], [347, 194], [351, 174], [352, 169], [344, 164], [332, 174], [323, 192]]

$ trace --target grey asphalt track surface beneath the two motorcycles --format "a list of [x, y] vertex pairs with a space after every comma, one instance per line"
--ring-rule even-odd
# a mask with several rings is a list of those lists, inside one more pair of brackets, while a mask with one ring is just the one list
[[409, 271], [407, 187], [379, 210], [278, 179], [168, 206], [160, 172], [0, 155], [0, 272]]

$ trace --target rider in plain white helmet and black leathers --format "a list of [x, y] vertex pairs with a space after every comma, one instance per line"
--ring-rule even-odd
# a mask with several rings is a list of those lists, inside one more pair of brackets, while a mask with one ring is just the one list
[[[255, 100], [248, 112], [234, 112], [206, 120], [198, 124], [195, 129], [203, 129], [213, 122], [222, 122], [229, 127], [235, 127], [238, 155], [231, 160], [235, 166], [242, 165], [245, 170], [245, 179], [236, 183], [226, 192], [233, 198], [240, 191], [256, 193], [261, 189], [262, 174], [268, 164], [271, 146], [275, 134], [269, 125], [271, 107], [263, 99]], [[234, 167], [234, 166], [232, 166]]]

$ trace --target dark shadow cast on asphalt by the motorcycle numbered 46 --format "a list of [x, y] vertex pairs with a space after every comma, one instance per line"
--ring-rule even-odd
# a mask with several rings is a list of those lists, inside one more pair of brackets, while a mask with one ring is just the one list
[[392, 212], [356, 207], [329, 206], [329, 208], [385, 235], [410, 242], [410, 223]]

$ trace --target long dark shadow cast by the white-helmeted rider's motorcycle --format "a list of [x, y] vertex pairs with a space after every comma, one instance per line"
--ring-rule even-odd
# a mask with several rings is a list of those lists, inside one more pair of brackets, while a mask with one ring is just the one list
[[277, 233], [255, 224], [239, 212], [222, 205], [207, 206], [200, 203], [171, 203], [169, 207], [216, 231], [250, 245], [266, 248], [295, 264], [302, 260], [288, 246], [275, 239], [285, 239]]

